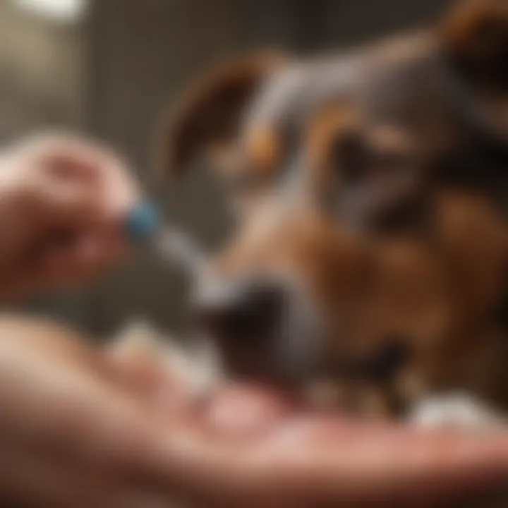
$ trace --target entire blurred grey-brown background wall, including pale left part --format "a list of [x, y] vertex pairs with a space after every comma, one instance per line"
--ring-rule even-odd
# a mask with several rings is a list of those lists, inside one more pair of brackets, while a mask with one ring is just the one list
[[[340, 48], [433, 20], [449, 0], [0, 0], [0, 142], [80, 128], [131, 160], [167, 218], [206, 246], [226, 235], [222, 194], [198, 172], [152, 183], [162, 111], [200, 69], [230, 54]], [[79, 295], [30, 303], [92, 332], [133, 317], [185, 326], [186, 280], [143, 255]]]

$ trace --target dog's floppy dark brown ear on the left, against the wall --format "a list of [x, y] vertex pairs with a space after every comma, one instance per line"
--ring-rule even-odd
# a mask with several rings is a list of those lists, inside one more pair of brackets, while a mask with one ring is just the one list
[[163, 128], [164, 174], [181, 174], [207, 150], [231, 143], [249, 99], [285, 61], [285, 56], [275, 53], [244, 56], [193, 83]]

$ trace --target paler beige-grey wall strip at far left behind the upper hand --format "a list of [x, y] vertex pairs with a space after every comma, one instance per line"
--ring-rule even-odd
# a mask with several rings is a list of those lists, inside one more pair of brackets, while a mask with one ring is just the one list
[[[83, 123], [85, 34], [0, 1], [0, 145], [40, 128]], [[87, 325], [81, 296], [49, 296], [28, 310]]]

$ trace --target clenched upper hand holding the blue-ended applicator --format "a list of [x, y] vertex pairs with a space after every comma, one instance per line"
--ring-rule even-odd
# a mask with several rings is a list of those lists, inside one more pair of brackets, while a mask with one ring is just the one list
[[0, 300], [92, 279], [121, 256], [138, 190], [126, 164], [71, 135], [23, 140], [0, 158]]

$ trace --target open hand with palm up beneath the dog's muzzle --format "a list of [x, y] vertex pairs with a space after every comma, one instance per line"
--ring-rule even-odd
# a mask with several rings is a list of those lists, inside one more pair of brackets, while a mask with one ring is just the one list
[[252, 386], [195, 401], [160, 351], [4, 320], [0, 471], [0, 502], [27, 507], [482, 504], [508, 436], [345, 421]]

